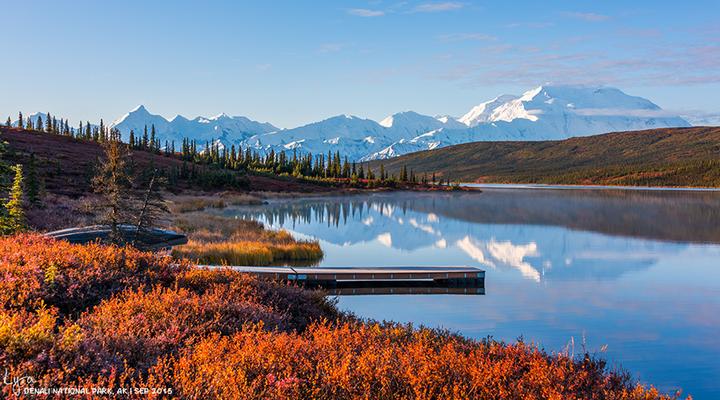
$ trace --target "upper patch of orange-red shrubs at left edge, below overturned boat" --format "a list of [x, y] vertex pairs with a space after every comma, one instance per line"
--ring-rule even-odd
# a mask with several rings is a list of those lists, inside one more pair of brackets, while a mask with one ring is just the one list
[[37, 234], [0, 238], [0, 303], [79, 312], [126, 288], [169, 283], [187, 268], [132, 248], [75, 245]]

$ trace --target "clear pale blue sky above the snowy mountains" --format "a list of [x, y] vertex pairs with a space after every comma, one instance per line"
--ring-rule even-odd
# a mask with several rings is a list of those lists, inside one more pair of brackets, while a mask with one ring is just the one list
[[720, 112], [714, 1], [6, 1], [0, 116], [459, 116], [545, 82]]

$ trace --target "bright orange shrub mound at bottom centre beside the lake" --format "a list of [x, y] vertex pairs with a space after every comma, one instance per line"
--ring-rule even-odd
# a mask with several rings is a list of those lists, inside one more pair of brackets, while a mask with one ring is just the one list
[[186, 398], [662, 398], [589, 355], [576, 360], [522, 342], [471, 341], [390, 323], [212, 335], [150, 376]]

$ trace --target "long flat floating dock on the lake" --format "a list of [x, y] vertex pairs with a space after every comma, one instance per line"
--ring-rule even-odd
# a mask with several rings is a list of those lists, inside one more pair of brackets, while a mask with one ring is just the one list
[[[200, 266], [218, 268], [217, 266]], [[246, 267], [262, 279], [330, 289], [331, 294], [484, 294], [485, 271], [473, 267]]]

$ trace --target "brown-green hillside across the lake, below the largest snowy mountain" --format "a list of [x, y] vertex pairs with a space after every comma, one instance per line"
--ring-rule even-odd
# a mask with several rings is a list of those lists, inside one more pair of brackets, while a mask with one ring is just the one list
[[720, 187], [720, 127], [474, 142], [371, 163], [463, 182]]

